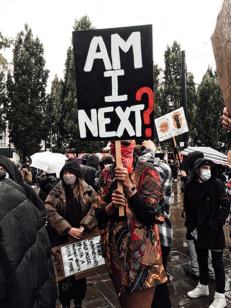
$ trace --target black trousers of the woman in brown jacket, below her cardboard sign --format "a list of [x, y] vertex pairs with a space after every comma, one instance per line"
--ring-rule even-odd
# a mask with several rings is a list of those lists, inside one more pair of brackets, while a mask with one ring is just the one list
[[71, 299], [75, 305], [81, 305], [87, 291], [86, 277], [76, 280], [75, 276], [58, 282], [58, 299], [62, 306], [70, 306]]

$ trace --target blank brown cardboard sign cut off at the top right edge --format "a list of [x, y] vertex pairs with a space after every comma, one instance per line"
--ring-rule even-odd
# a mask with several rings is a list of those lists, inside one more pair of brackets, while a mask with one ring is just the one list
[[231, 113], [231, 0], [224, 0], [211, 37], [225, 104]]

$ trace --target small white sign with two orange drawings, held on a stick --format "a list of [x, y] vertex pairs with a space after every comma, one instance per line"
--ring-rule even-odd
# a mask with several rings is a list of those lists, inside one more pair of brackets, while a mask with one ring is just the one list
[[155, 127], [159, 141], [188, 132], [184, 108], [181, 107], [165, 116], [158, 117], [155, 119]]

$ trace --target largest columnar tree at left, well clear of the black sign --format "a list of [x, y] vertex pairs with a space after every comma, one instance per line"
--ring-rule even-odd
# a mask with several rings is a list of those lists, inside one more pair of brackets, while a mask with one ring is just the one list
[[34, 39], [31, 28], [25, 24], [15, 39], [14, 82], [9, 80], [7, 85], [9, 133], [22, 161], [39, 151], [41, 140], [48, 134], [44, 112], [49, 71], [45, 69], [43, 53], [39, 38]]

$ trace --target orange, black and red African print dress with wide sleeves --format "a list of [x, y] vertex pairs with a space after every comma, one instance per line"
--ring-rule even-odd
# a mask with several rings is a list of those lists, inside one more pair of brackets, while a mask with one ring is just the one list
[[[98, 209], [108, 205], [107, 194], [113, 183], [114, 169], [115, 165], [112, 165], [101, 173], [95, 205]], [[110, 219], [99, 226], [102, 254], [108, 259], [110, 277], [120, 273], [121, 292], [147, 289], [167, 281], [156, 225], [164, 221], [164, 195], [158, 173], [152, 164], [139, 161], [130, 179], [145, 200], [153, 224], [148, 227], [141, 224], [126, 198], [126, 219]]]

